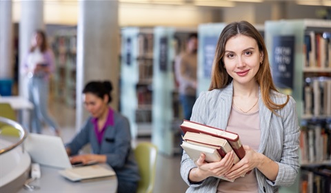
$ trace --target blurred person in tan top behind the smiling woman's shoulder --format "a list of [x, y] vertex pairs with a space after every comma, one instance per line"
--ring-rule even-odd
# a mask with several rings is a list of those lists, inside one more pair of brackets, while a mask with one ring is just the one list
[[184, 119], [190, 120], [197, 95], [197, 33], [189, 34], [185, 52], [175, 63], [175, 75], [179, 84], [179, 99], [183, 107]]

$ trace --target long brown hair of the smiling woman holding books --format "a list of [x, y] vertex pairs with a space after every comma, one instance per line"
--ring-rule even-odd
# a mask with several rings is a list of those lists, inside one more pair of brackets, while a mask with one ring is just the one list
[[260, 85], [263, 103], [269, 110], [275, 113], [275, 110], [283, 108], [288, 103], [290, 96], [288, 96], [288, 99], [283, 104], [274, 103], [270, 99], [270, 91], [274, 90], [278, 92], [278, 90], [272, 81], [268, 51], [259, 31], [247, 21], [232, 22], [221, 32], [219, 40], [217, 41], [214, 63], [212, 65], [212, 80], [209, 90], [224, 88], [226, 85], [231, 83], [232, 77], [230, 77], [225, 68], [223, 68], [223, 57], [225, 53], [225, 44], [231, 37], [234, 37], [237, 34], [243, 34], [247, 37], [255, 39], [257, 41], [257, 45], [259, 46], [259, 52], [263, 52], [263, 61], [260, 65], [259, 71], [257, 71], [257, 74], [255, 75], [255, 80]]

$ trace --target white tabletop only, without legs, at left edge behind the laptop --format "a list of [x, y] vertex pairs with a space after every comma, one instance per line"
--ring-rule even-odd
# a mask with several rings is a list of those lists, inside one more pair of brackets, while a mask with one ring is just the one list
[[23, 96], [0, 96], [0, 103], [10, 103], [14, 110], [33, 109], [33, 104]]

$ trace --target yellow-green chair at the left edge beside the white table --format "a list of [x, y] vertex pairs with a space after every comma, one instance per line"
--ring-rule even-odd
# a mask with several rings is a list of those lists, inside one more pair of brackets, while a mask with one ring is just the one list
[[[0, 116], [17, 121], [15, 111], [12, 109], [9, 103], [0, 103]], [[20, 135], [19, 130], [12, 128], [12, 126], [5, 123], [0, 123], [0, 134], [7, 136]]]

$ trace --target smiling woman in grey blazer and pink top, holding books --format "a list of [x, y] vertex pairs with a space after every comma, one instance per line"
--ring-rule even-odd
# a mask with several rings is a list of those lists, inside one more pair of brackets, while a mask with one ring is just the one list
[[295, 101], [275, 88], [263, 37], [247, 21], [230, 23], [221, 32], [209, 91], [201, 92], [190, 121], [239, 134], [245, 156], [233, 164], [231, 152], [207, 163], [201, 154], [194, 162], [184, 151], [181, 176], [187, 192], [277, 192], [294, 183], [299, 170]]

